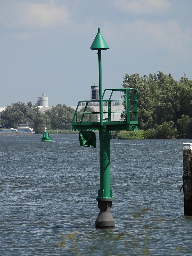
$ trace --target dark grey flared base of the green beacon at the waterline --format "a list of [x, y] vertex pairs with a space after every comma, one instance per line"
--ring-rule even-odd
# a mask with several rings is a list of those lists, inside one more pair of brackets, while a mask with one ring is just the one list
[[95, 221], [95, 228], [113, 228], [115, 220], [111, 215], [112, 199], [98, 200], [100, 213]]

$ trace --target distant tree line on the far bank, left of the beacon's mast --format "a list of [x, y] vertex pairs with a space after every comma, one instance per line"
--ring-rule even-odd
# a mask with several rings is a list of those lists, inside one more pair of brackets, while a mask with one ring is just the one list
[[[83, 112], [82, 107], [78, 112]], [[94, 109], [87, 107], [86, 112], [94, 112]], [[71, 121], [74, 116], [75, 109], [65, 104], [57, 104], [50, 110], [46, 110], [45, 114], [39, 111], [39, 107], [28, 102], [27, 105], [22, 102], [12, 103], [2, 111], [0, 116], [0, 127], [14, 127], [18, 124], [28, 123], [35, 130], [35, 133], [42, 133], [45, 129], [53, 130], [69, 130], [72, 129]], [[79, 114], [80, 115], [80, 114]], [[97, 114], [86, 114], [85, 121], [98, 121]]]

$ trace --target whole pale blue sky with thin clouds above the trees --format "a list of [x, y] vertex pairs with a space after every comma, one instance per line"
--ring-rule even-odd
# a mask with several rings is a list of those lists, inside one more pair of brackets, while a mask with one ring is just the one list
[[191, 0], [0, 0], [0, 107], [38, 97], [76, 106], [99, 85], [122, 88], [125, 74], [191, 79]]

